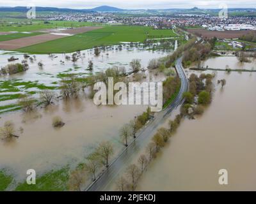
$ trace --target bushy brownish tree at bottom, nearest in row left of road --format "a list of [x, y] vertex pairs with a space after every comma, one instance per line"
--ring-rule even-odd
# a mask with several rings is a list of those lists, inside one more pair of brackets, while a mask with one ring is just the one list
[[82, 191], [81, 187], [86, 179], [87, 177], [84, 169], [72, 171], [68, 178], [69, 191]]

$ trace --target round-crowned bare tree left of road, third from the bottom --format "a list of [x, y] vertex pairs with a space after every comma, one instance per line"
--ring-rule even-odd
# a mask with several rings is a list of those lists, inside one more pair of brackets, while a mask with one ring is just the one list
[[100, 159], [104, 160], [104, 164], [108, 168], [109, 166], [109, 157], [111, 157], [114, 153], [113, 145], [110, 142], [102, 142], [97, 147], [96, 154], [100, 157]]

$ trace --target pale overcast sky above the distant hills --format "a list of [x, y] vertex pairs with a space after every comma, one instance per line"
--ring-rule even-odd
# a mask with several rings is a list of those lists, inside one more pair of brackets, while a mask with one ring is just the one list
[[49, 6], [58, 8], [93, 8], [108, 5], [118, 8], [219, 8], [227, 4], [229, 8], [255, 8], [255, 0], [0, 0], [0, 6]]

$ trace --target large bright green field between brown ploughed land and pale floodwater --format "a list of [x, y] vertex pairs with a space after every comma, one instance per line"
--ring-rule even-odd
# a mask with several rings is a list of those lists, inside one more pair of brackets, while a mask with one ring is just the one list
[[116, 45], [122, 41], [143, 42], [147, 38], [175, 36], [172, 30], [154, 30], [143, 26], [106, 26], [95, 31], [20, 48], [17, 51], [34, 54], [69, 53], [86, 48]]

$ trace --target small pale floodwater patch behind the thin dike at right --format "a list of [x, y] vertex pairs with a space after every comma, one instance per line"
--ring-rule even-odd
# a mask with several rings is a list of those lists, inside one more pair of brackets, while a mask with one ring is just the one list
[[208, 66], [214, 69], [256, 69], [255, 59], [250, 58], [251, 62], [239, 62], [237, 57], [223, 56], [223, 57], [211, 57], [202, 62], [201, 66]]

